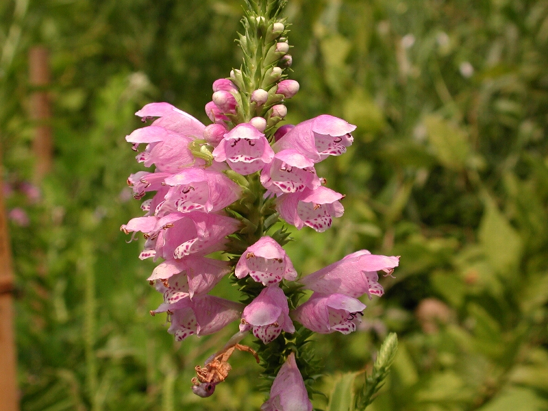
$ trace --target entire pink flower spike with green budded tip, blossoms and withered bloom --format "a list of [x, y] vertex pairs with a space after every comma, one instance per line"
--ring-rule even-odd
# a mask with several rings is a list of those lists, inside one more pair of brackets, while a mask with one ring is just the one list
[[[310, 334], [302, 330], [355, 331], [366, 308], [358, 298], [381, 296], [377, 271], [390, 275], [399, 258], [356, 251], [297, 280], [282, 248], [288, 232], [285, 227], [272, 232], [273, 227], [281, 217], [297, 229], [323, 232], [343, 215], [344, 196], [323, 186], [314, 164], [345, 153], [356, 126], [324, 114], [276, 128], [286, 116], [285, 99], [299, 90], [297, 82], [284, 78], [291, 58], [286, 22], [278, 14], [285, 1], [246, 3], [239, 38], [244, 63], [230, 79], [214, 82], [206, 105], [212, 124], [169, 103], [150, 103], [136, 112], [142, 121], [155, 120], [126, 140], [135, 151], [146, 145], [136, 158], [155, 171], [139, 171], [127, 182], [136, 199], [155, 194], [142, 202], [145, 215], [121, 230], [133, 233], [132, 239], [142, 232], [141, 259], [162, 259], [148, 280], [164, 302], [151, 314], [167, 313], [168, 332], [176, 340], [212, 334], [240, 320], [238, 338], [197, 367], [195, 393], [213, 393], [230, 369], [226, 361], [234, 349], [254, 353], [238, 344], [252, 332], [260, 340], [265, 373], [277, 375], [262, 409], [279, 404], [284, 409], [298, 398], [302, 409], [311, 410], [301, 376], [310, 383], [312, 373], [303, 371], [311, 362], [308, 345], [303, 347]], [[208, 257], [214, 251], [224, 251], [229, 260]], [[242, 302], [209, 294], [225, 275], [242, 292]], [[313, 293], [299, 305], [301, 288]], [[303, 327], [296, 329], [293, 321]], [[265, 349], [269, 344], [276, 349]]]

